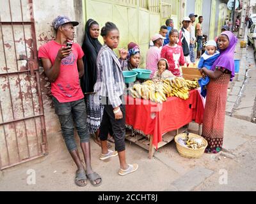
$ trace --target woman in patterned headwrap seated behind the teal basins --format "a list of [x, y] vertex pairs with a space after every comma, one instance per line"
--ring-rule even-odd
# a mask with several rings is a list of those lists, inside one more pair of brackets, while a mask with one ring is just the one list
[[128, 64], [125, 70], [131, 71], [132, 69], [136, 69], [140, 65], [140, 47], [136, 43], [129, 43], [128, 45]]

